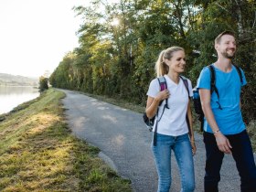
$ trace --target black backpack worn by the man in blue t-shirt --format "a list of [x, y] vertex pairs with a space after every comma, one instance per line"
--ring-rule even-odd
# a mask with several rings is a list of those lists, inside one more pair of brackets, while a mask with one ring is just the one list
[[[235, 69], [237, 69], [238, 74], [240, 76], [240, 83], [242, 84], [242, 75], [241, 75], [241, 69], [234, 65]], [[219, 91], [216, 87], [216, 74], [215, 74], [215, 69], [213, 67], [213, 65], [208, 65], [208, 69], [210, 71], [210, 94], [212, 94], [214, 91], [217, 94], [217, 97], [219, 99]], [[204, 112], [202, 110], [202, 105], [201, 105], [201, 100], [200, 100], [200, 95], [199, 95], [199, 91], [198, 89], [194, 89], [193, 90], [193, 103], [194, 103], [194, 109], [195, 112], [198, 114], [198, 120], [201, 123], [200, 125], [200, 131], [203, 132], [204, 130]], [[219, 109], [222, 110], [220, 104], [219, 104]]]

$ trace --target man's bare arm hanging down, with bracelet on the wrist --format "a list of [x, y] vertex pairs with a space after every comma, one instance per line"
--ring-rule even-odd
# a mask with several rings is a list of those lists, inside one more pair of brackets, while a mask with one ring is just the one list
[[219, 131], [219, 126], [216, 123], [214, 114], [211, 110], [210, 91], [207, 89], [199, 89], [199, 94], [200, 94], [200, 100], [201, 100], [203, 112], [205, 114], [205, 117], [208, 121], [209, 126], [212, 129], [212, 132], [214, 133], [217, 145], [219, 147], [219, 151], [225, 154], [231, 154], [230, 148], [232, 147], [229, 144], [229, 139]]

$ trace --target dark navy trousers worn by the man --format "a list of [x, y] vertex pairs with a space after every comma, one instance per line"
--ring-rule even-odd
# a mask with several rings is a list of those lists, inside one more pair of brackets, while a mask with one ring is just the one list
[[[238, 134], [226, 135], [232, 148], [232, 155], [240, 174], [240, 191], [256, 191], [256, 167], [252, 154], [251, 141], [246, 131]], [[207, 161], [204, 178], [205, 192], [218, 192], [220, 180], [219, 171], [224, 153], [219, 151], [213, 133], [204, 133]]]

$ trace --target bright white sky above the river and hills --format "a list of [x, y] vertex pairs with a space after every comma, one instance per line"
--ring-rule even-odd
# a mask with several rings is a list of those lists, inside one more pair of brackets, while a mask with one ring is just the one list
[[0, 73], [39, 77], [73, 48], [81, 18], [74, 5], [90, 0], [0, 0]]

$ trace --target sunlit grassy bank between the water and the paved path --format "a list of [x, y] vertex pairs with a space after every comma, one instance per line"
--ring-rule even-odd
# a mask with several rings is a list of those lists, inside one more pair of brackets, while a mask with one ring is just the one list
[[132, 191], [70, 134], [61, 98], [49, 90], [0, 116], [0, 191]]

